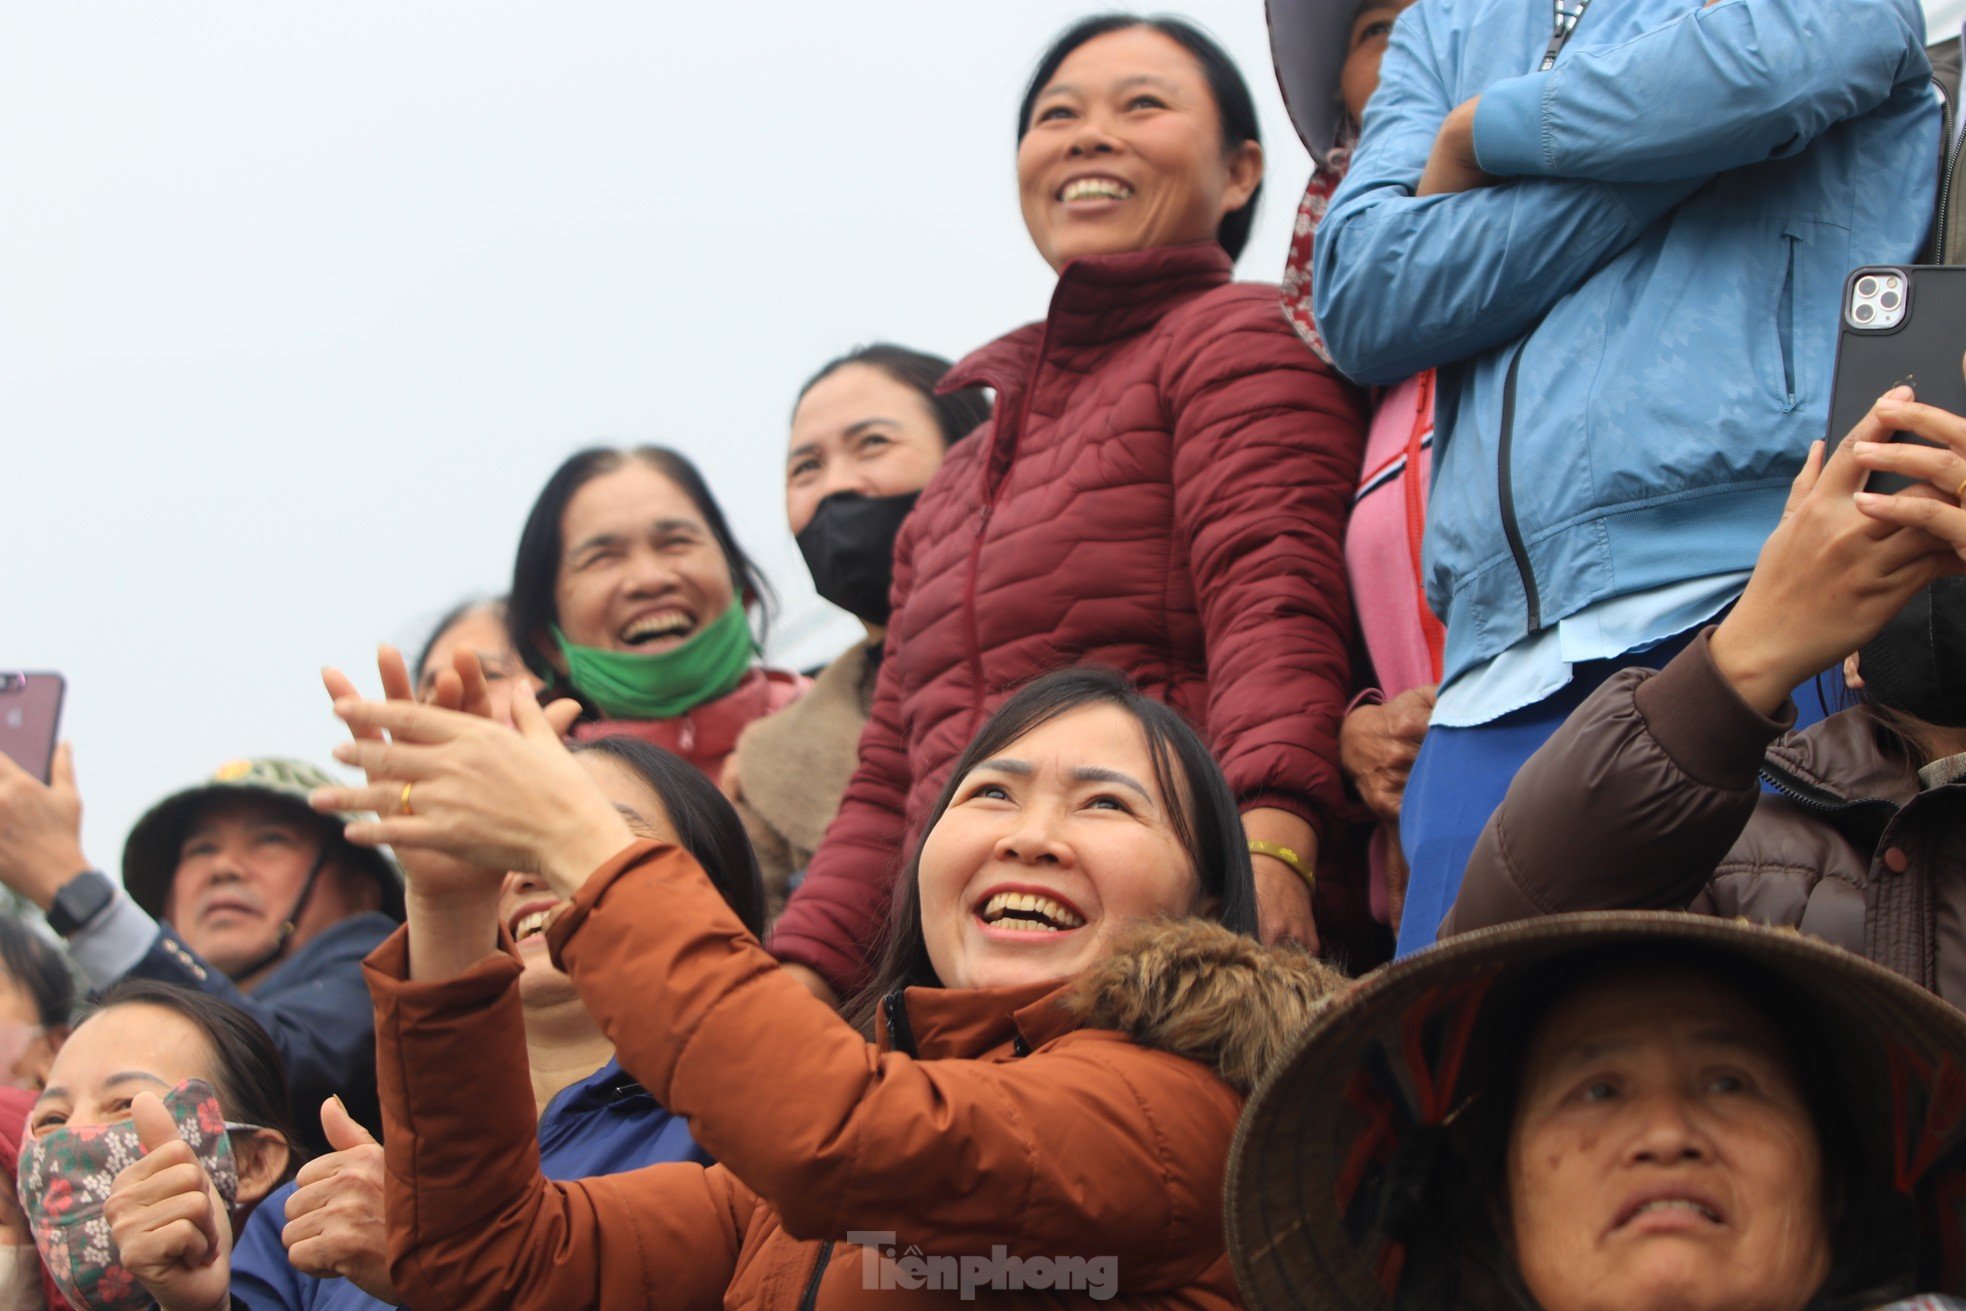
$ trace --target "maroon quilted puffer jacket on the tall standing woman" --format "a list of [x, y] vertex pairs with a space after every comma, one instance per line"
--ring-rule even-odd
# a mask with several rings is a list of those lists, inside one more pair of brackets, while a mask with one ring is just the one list
[[895, 546], [859, 769], [773, 951], [865, 983], [895, 875], [950, 765], [1020, 682], [1125, 670], [1199, 725], [1246, 810], [1345, 814], [1341, 541], [1360, 395], [1221, 246], [1079, 259], [1044, 322], [944, 387], [997, 389]]

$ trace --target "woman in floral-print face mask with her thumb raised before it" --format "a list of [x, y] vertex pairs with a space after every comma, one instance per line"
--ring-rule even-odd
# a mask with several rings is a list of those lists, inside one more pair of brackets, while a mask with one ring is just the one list
[[28, 1116], [20, 1203], [77, 1311], [224, 1311], [238, 1225], [295, 1162], [279, 1054], [252, 1016], [126, 981]]

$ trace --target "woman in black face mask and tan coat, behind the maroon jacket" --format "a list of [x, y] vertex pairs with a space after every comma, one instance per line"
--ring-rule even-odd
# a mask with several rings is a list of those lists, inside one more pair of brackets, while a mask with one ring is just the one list
[[887, 641], [895, 537], [948, 448], [989, 419], [967, 387], [940, 395], [950, 362], [863, 346], [804, 385], [784, 456], [784, 515], [822, 598], [861, 621], [855, 643], [779, 713], [737, 739], [723, 790], [737, 802], [773, 914], [839, 810], [859, 761]]

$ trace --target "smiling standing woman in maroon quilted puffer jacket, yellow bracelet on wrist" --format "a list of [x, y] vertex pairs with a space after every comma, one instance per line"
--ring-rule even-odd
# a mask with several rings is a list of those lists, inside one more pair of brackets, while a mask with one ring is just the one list
[[1185, 24], [1091, 18], [1038, 65], [1016, 165], [1058, 289], [1044, 322], [942, 383], [993, 387], [997, 409], [900, 531], [859, 769], [773, 934], [820, 993], [865, 983], [910, 824], [963, 743], [1016, 684], [1077, 660], [1205, 731], [1268, 936], [1362, 920], [1329, 853], [1364, 409], [1276, 287], [1231, 283], [1262, 187], [1248, 88]]

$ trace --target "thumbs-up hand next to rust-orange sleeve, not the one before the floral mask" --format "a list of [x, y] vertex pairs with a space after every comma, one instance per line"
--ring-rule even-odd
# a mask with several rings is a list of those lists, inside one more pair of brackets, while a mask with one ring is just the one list
[[338, 1097], [320, 1103], [320, 1128], [334, 1148], [295, 1175], [287, 1199], [287, 1260], [301, 1274], [348, 1280], [391, 1307], [389, 1226], [381, 1211], [381, 1144], [356, 1124]]

